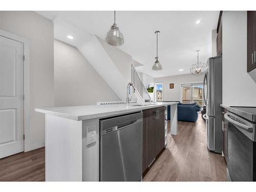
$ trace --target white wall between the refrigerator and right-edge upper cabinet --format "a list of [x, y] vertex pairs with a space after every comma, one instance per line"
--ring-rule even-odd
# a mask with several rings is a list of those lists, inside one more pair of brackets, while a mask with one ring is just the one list
[[224, 11], [222, 16], [223, 104], [256, 106], [256, 75], [246, 71], [247, 13]]

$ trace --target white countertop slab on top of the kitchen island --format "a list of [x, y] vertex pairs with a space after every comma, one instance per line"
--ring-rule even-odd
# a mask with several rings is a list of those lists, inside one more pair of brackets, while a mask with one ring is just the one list
[[76, 121], [102, 118], [112, 115], [119, 115], [125, 113], [131, 113], [141, 111], [150, 108], [157, 108], [159, 106], [177, 104], [178, 102], [157, 102], [143, 106], [133, 105], [86, 105], [86, 106], [63, 106], [54, 108], [36, 108], [35, 111], [39, 113], [45, 113], [54, 115], [66, 119], [72, 119]]

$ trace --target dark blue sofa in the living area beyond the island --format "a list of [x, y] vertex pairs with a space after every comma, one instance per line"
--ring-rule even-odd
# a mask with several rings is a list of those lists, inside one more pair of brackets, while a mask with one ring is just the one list
[[[190, 122], [196, 122], [198, 119], [198, 112], [201, 109], [201, 106], [199, 106], [196, 102], [195, 103], [189, 103], [189, 104], [183, 104], [178, 103], [178, 121], [190, 121]], [[167, 117], [170, 119], [170, 106], [167, 108]]]

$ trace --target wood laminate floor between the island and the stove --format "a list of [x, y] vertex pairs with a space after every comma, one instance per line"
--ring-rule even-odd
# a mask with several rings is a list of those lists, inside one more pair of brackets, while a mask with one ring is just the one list
[[143, 177], [143, 181], [225, 181], [226, 163], [221, 154], [206, 146], [205, 121], [178, 121], [178, 135], [170, 135], [168, 145]]

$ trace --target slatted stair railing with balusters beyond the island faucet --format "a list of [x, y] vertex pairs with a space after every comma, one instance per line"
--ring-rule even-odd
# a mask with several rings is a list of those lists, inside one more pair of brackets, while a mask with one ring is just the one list
[[132, 82], [138, 93], [139, 97], [142, 99], [143, 102], [150, 102], [152, 101], [150, 94], [147, 92], [146, 87], [143, 84], [139, 74], [135, 70], [135, 67], [132, 65]]

